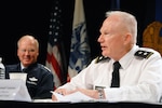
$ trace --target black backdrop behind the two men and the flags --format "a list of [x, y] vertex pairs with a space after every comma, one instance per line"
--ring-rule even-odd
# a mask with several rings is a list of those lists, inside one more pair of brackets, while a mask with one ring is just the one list
[[[16, 63], [16, 42], [25, 33], [31, 33], [40, 42], [39, 63], [46, 59], [50, 13], [53, 0], [8, 0], [0, 4], [0, 55], [4, 64]], [[113, 1], [113, 3], [112, 3]], [[148, 24], [161, 19], [161, 0], [84, 0], [87, 33], [90, 36], [91, 56], [100, 54], [97, 38], [99, 28], [109, 10], [123, 10], [134, 14], [138, 21], [138, 44], [143, 44], [143, 31]], [[71, 25], [75, 0], [60, 0], [63, 9], [63, 41], [67, 63], [71, 40]], [[158, 13], [158, 15], [157, 15]]]

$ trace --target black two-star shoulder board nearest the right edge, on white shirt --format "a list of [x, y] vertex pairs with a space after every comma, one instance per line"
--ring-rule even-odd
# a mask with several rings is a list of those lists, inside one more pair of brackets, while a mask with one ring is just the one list
[[147, 51], [144, 51], [144, 50], [138, 50], [135, 53], [135, 56], [139, 56], [139, 57], [143, 57], [143, 58], [149, 58], [152, 54], [153, 54], [152, 52], [147, 52]]

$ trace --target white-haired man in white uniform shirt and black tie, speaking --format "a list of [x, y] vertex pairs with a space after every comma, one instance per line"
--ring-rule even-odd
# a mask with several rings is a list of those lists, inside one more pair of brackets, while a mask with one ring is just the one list
[[[55, 92], [68, 95], [79, 91], [107, 102], [159, 102], [162, 58], [159, 52], [136, 45], [136, 18], [122, 11], [108, 12], [99, 31], [102, 56]], [[113, 63], [118, 63], [116, 72]], [[52, 99], [58, 98], [53, 95]]]

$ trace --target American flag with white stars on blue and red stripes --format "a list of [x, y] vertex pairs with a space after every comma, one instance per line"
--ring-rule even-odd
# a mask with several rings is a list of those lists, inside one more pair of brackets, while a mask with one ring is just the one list
[[[53, 2], [48, 41], [46, 67], [54, 75], [55, 89], [64, 83], [63, 77], [63, 42], [62, 42], [62, 10], [58, 0]], [[64, 59], [65, 60], [65, 59]]]

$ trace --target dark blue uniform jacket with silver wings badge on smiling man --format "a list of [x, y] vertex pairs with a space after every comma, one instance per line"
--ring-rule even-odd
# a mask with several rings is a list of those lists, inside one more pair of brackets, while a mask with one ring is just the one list
[[[21, 70], [21, 64], [6, 65], [5, 78], [9, 79], [10, 72], [23, 72]], [[51, 98], [50, 91], [54, 91], [54, 80], [51, 70], [41, 64], [32, 64], [24, 72], [27, 73], [26, 85], [29, 95], [32, 99]]]

